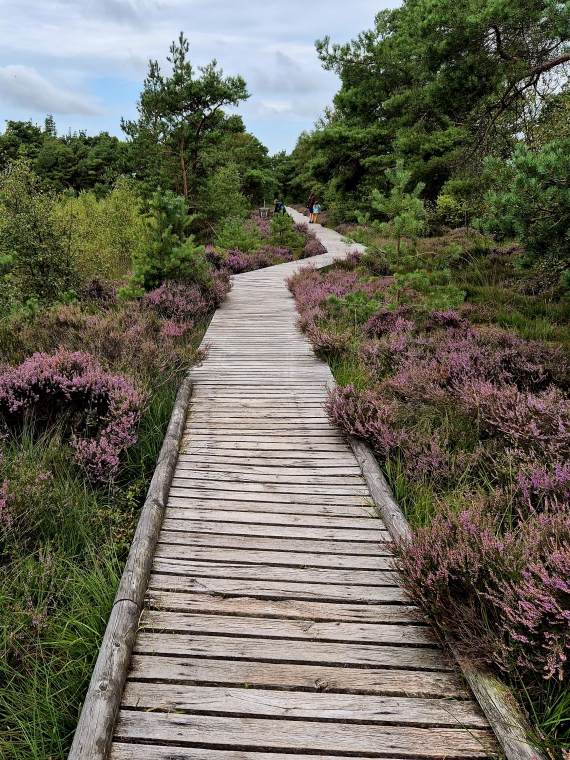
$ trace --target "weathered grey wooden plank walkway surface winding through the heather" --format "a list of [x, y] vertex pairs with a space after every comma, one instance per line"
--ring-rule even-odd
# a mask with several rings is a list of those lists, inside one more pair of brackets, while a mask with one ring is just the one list
[[[329, 254], [340, 236], [316, 227]], [[239, 275], [204, 364], [112, 760], [485, 758], [492, 733], [398, 587], [284, 280]]]

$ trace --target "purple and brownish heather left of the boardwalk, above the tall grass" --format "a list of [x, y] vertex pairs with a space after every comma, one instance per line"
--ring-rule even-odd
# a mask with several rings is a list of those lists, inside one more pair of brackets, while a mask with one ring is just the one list
[[151, 393], [202, 357], [196, 325], [225, 297], [229, 276], [214, 273], [209, 289], [165, 283], [133, 301], [102, 281], [86, 289], [79, 303], [0, 322], [9, 361], [0, 367], [0, 418], [16, 434], [32, 425], [63, 435], [92, 481], [111, 482]]

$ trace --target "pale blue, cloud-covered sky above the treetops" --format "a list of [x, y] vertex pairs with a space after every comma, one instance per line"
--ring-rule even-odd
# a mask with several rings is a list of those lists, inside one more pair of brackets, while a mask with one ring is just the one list
[[241, 74], [247, 128], [271, 153], [291, 150], [338, 89], [314, 41], [345, 42], [398, 0], [0, 0], [0, 131], [6, 119], [58, 131], [107, 130], [136, 115], [149, 58], [165, 67], [184, 31], [195, 66]]

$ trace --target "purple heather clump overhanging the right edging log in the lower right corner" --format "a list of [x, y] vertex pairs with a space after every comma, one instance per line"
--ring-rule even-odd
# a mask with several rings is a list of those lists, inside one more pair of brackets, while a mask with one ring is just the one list
[[410, 595], [471, 654], [476, 647], [505, 672], [570, 675], [567, 508], [503, 530], [480, 502], [459, 512], [442, 505], [397, 556]]

